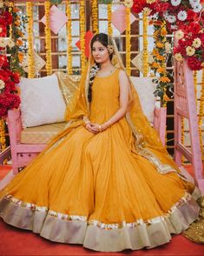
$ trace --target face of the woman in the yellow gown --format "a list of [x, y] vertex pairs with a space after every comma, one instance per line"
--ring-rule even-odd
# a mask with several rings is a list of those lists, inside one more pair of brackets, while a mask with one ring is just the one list
[[106, 46], [104, 46], [99, 41], [95, 41], [92, 46], [92, 55], [95, 59], [95, 62], [102, 64], [109, 60], [109, 51]]

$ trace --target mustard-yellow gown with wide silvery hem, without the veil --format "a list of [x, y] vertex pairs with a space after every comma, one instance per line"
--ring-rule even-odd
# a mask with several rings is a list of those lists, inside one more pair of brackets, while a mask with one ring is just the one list
[[[118, 73], [95, 77], [91, 122], [102, 124], [118, 110]], [[167, 243], [171, 233], [188, 228], [199, 212], [193, 190], [137, 154], [121, 118], [98, 134], [83, 125], [70, 131], [5, 187], [0, 212], [10, 225], [56, 242], [136, 250]]]

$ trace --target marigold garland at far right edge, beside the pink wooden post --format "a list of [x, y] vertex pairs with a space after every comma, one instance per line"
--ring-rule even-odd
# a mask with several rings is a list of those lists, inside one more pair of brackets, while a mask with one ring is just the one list
[[201, 153], [202, 153], [202, 160], [204, 160], [204, 152], [203, 152], [203, 141], [202, 141], [202, 118], [204, 116], [204, 68], [202, 69], [202, 80], [201, 80], [201, 98], [200, 98], [200, 111], [199, 111], [199, 119], [198, 119], [198, 124], [199, 124], [199, 137], [200, 137], [200, 144], [201, 144]]

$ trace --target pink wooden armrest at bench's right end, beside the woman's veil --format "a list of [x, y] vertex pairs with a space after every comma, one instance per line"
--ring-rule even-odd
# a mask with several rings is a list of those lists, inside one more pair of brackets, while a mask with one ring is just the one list
[[155, 106], [153, 125], [156, 131], [158, 131], [161, 142], [165, 146], [166, 138], [166, 123], [167, 123], [167, 108]]

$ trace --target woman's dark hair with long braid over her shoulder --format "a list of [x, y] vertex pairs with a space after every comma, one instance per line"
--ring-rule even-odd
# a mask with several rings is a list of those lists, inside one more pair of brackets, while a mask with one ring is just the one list
[[[91, 49], [91, 51], [93, 49], [93, 44], [95, 43], [95, 41], [100, 42], [105, 47], [107, 47], [108, 44], [109, 44], [109, 38], [108, 38], [107, 34], [104, 34], [104, 33], [96, 34], [94, 37], [92, 37], [91, 42], [90, 42], [90, 49]], [[112, 57], [113, 57], [113, 53], [111, 53], [109, 55], [110, 60], [112, 59]], [[94, 82], [94, 78], [95, 78], [95, 74], [97, 72], [97, 68], [99, 68], [99, 64], [95, 63], [95, 66], [90, 71], [90, 72], [93, 72], [94, 75], [93, 74], [89, 74], [89, 92], [88, 92], [89, 102], [91, 102], [91, 99], [92, 99], [92, 84]]]

